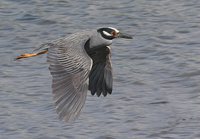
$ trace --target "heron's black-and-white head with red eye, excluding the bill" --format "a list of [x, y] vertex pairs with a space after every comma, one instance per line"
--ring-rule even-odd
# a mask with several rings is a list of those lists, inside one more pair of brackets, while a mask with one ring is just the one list
[[112, 40], [116, 38], [119, 34], [119, 31], [115, 28], [108, 27], [108, 28], [99, 28], [97, 30], [101, 34], [101, 36], [107, 40]]

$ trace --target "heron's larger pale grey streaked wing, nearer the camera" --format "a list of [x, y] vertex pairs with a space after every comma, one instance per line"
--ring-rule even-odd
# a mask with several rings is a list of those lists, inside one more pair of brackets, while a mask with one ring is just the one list
[[85, 52], [88, 35], [75, 34], [48, 48], [52, 91], [60, 119], [75, 120], [85, 104], [92, 60]]

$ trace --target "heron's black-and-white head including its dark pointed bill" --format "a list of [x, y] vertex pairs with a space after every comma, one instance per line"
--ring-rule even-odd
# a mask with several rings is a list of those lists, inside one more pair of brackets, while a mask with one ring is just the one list
[[126, 38], [126, 39], [132, 39], [132, 36], [129, 34], [125, 34], [117, 30], [116, 28], [113, 27], [107, 27], [107, 28], [99, 28], [97, 30], [101, 34], [101, 36], [104, 39], [107, 40], [112, 40], [115, 38]]

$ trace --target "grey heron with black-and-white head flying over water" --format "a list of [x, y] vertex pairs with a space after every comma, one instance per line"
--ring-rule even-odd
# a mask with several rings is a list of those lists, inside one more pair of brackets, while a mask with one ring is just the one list
[[16, 60], [47, 53], [56, 111], [61, 120], [73, 121], [80, 115], [88, 90], [98, 97], [112, 93], [109, 46], [115, 38], [132, 39], [113, 27], [84, 30], [44, 43], [38, 52], [22, 54]]

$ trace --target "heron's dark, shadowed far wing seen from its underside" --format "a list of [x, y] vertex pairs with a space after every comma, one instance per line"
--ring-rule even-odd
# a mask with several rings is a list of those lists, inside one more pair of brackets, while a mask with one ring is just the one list
[[89, 75], [89, 90], [91, 94], [97, 96], [103, 94], [106, 96], [112, 93], [112, 65], [110, 48], [100, 47], [88, 51], [93, 60], [93, 66]]

